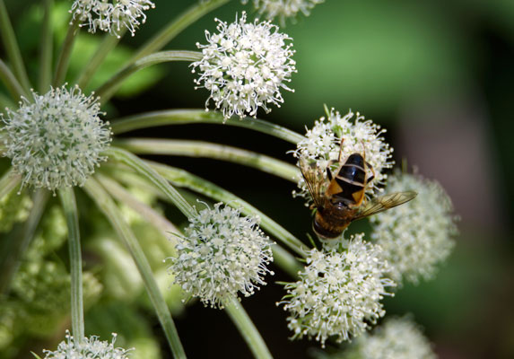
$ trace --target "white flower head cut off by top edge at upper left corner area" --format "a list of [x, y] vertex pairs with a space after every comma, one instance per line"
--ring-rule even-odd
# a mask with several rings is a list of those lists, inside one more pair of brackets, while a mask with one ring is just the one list
[[89, 32], [99, 29], [119, 38], [125, 28], [134, 36], [139, 25], [146, 22], [144, 12], [154, 7], [150, 0], [75, 0], [70, 13], [81, 27], [88, 26]]

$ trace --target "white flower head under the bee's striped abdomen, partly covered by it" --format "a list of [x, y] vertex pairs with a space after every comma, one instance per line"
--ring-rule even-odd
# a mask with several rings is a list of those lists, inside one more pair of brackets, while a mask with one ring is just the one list
[[[327, 111], [327, 118], [319, 118], [314, 127], [307, 130], [305, 139], [297, 144], [293, 156], [315, 162], [319, 172], [326, 176], [327, 166], [330, 161], [337, 161], [341, 139], [344, 139], [341, 161], [344, 162], [352, 153], [361, 153], [375, 171], [375, 179], [366, 188], [366, 193], [372, 195], [380, 190], [379, 185], [388, 178], [383, 171], [391, 168], [394, 163], [391, 160], [393, 149], [381, 136], [385, 132], [385, 129], [381, 129], [370, 119], [365, 120], [359, 112], [353, 114], [350, 110], [341, 117], [338, 111], [330, 109], [329, 113]], [[336, 170], [337, 167], [331, 169]], [[370, 175], [371, 171], [368, 171], [368, 176]], [[312, 198], [303, 178], [299, 180], [298, 187], [301, 190], [293, 191], [293, 196], [306, 198], [306, 206], [309, 206]]]

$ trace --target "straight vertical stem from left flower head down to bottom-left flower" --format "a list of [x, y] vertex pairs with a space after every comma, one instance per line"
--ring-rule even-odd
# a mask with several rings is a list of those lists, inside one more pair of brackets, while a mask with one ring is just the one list
[[70, 252], [70, 272], [72, 278], [72, 332], [79, 343], [84, 338], [83, 312], [83, 261], [79, 216], [75, 201], [74, 188], [60, 188], [59, 197], [68, 226], [68, 244]]

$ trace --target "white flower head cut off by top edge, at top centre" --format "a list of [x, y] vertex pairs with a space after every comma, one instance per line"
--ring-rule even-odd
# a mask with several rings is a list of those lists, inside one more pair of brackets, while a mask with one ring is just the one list
[[[275, 17], [280, 19], [283, 25], [285, 19], [295, 18], [298, 13], [309, 16], [310, 10], [317, 4], [325, 0], [253, 0], [257, 12], [264, 14], [266, 19], [273, 20]], [[247, 4], [248, 0], [243, 0]]]

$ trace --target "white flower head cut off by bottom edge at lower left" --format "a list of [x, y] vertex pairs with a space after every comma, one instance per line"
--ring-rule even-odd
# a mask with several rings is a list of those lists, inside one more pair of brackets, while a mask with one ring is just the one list
[[55, 352], [44, 350], [44, 359], [128, 359], [128, 352], [132, 349], [114, 347], [117, 334], [112, 333], [112, 341], [100, 341], [98, 337], [84, 337], [82, 343], [77, 343], [74, 337], [66, 330], [66, 339], [63, 340]]

